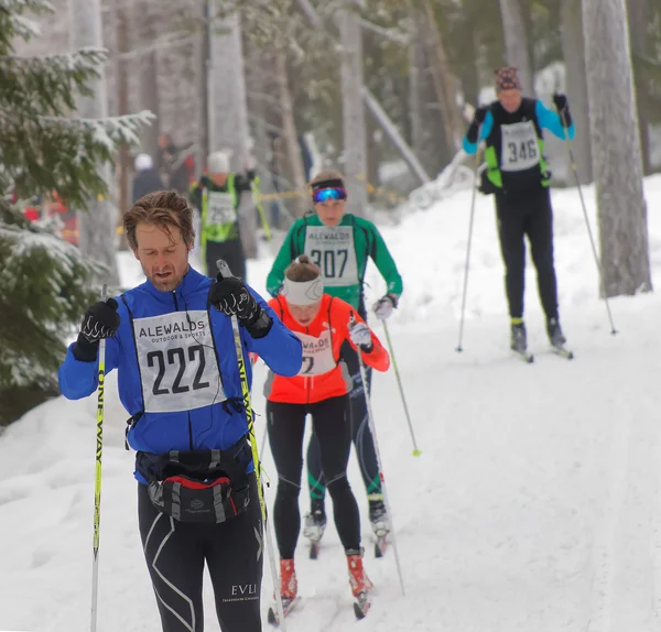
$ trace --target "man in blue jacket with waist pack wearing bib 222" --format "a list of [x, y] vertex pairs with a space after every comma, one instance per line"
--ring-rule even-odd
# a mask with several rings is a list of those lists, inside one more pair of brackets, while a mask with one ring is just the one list
[[302, 345], [242, 280], [188, 265], [192, 218], [175, 192], [147, 195], [124, 215], [148, 280], [89, 307], [59, 386], [71, 400], [96, 390], [106, 339], [106, 370], [118, 370], [131, 415], [138, 522], [163, 631], [203, 631], [206, 563], [220, 629], [261, 632], [262, 515], [230, 316], [246, 351], [278, 374], [300, 371]]

